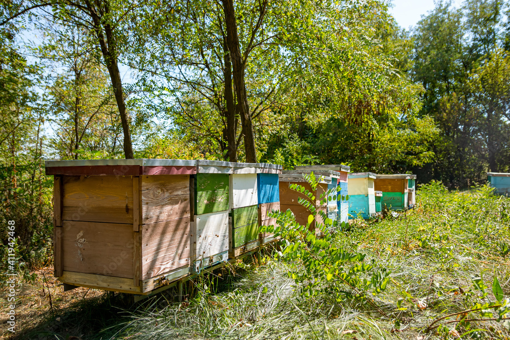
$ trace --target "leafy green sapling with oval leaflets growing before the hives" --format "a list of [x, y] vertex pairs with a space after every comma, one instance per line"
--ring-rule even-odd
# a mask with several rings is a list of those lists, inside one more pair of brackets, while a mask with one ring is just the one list
[[[333, 194], [336, 189], [320, 194], [317, 201], [314, 192], [319, 183], [318, 178], [313, 172], [304, 177], [312, 192], [298, 184], [290, 184], [290, 189], [307, 197], [299, 198], [298, 202], [310, 212], [308, 223], [302, 225], [296, 222], [290, 210], [273, 211], [268, 216], [276, 218], [277, 225], [262, 227], [263, 232], [272, 232], [281, 238], [282, 250], [275, 253], [275, 256], [290, 264], [297, 264], [289, 270], [288, 275], [299, 287], [300, 296], [308, 298], [319, 294], [333, 294], [337, 301], [342, 301], [346, 297], [365, 299], [369, 294], [375, 295], [384, 291], [390, 274], [386, 268], [378, 266], [375, 260], [371, 263], [364, 262], [363, 253], [348, 252], [332, 243], [328, 229], [337, 227], [338, 223], [317, 207], [325, 204], [328, 195]], [[345, 226], [342, 222], [341, 227]], [[319, 232], [322, 237], [317, 236]], [[366, 300], [374, 304], [370, 299]]]

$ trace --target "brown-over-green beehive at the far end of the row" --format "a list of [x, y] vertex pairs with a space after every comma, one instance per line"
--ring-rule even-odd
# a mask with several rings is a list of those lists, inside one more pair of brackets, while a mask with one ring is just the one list
[[409, 204], [410, 175], [391, 174], [377, 175], [375, 179], [375, 190], [382, 191], [382, 208], [385, 206], [394, 211], [404, 211]]

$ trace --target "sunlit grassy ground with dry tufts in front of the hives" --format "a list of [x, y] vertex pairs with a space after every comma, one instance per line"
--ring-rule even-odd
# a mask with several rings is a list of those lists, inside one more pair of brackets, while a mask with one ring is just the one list
[[[182, 303], [173, 302], [172, 290], [135, 305], [122, 294], [64, 293], [52, 270], [42, 269], [18, 293], [14, 338], [510, 339], [510, 312], [499, 322], [467, 321], [497, 319], [497, 299], [510, 295], [510, 199], [486, 187], [448, 192], [432, 183], [420, 188], [417, 203], [406, 214], [358, 222], [334, 236], [339, 247], [391, 272], [377, 295], [301, 297], [287, 275], [300, 264], [270, 254], [189, 282]], [[493, 289], [495, 276], [501, 291]], [[3, 287], [4, 307], [6, 296]], [[467, 311], [473, 307], [483, 310]]]

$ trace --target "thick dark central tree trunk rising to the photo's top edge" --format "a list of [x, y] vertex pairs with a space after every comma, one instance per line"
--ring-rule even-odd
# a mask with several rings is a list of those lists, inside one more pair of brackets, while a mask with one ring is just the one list
[[237, 33], [236, 14], [234, 10], [234, 0], [222, 0], [223, 12], [225, 14], [226, 41], [230, 56], [232, 58], [233, 81], [236, 89], [237, 101], [240, 104], [241, 126], [244, 138], [244, 151], [246, 162], [257, 163], [257, 154], [255, 151], [255, 138], [253, 134], [253, 124], [249, 110], [248, 98], [246, 95], [246, 86], [244, 81], [244, 64], [239, 44], [239, 35]]

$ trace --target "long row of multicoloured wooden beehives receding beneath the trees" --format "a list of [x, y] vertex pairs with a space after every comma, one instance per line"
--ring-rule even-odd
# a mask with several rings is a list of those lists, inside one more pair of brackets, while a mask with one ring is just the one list
[[[373, 174], [348, 176], [349, 167], [341, 165], [282, 173], [281, 166], [261, 163], [46, 162], [46, 174], [55, 176], [55, 276], [68, 288], [143, 295], [237, 258], [272, 241], [270, 234], [259, 234], [260, 225], [275, 224], [267, 217], [272, 209], [290, 208], [298, 222], [307, 223], [309, 212], [298, 203], [302, 194], [289, 190], [289, 182], [311, 190], [303, 178], [311, 170], [322, 176], [315, 196], [331, 219], [346, 222], [348, 214], [370, 217], [380, 210]], [[379, 202], [397, 209], [408, 199], [414, 204], [407, 196], [414, 179], [413, 185], [410, 177], [409, 185], [407, 179], [405, 185], [392, 180]], [[341, 190], [320, 204], [320, 194], [337, 186]], [[395, 198], [400, 192], [403, 201]]]

